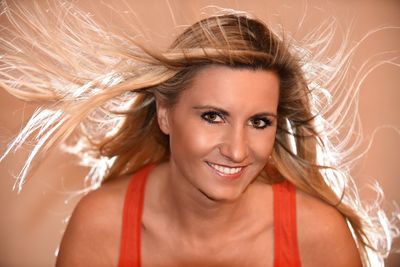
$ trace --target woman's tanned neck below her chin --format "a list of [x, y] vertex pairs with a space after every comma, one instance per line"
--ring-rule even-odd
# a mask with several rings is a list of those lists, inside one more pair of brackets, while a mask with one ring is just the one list
[[186, 238], [218, 238], [222, 233], [239, 231], [249, 210], [248, 190], [232, 201], [211, 199], [168, 164], [164, 192], [171, 222]]

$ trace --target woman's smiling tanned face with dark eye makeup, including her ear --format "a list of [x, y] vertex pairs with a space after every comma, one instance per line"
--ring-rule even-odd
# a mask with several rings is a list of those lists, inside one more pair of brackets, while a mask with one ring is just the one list
[[212, 200], [237, 199], [272, 152], [278, 96], [271, 71], [202, 69], [174, 107], [158, 106], [174, 179]]

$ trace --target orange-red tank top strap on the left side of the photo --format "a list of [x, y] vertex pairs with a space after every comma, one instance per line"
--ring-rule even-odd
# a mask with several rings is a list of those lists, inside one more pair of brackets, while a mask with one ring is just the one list
[[140, 232], [144, 190], [147, 176], [154, 165], [147, 165], [134, 174], [125, 194], [118, 267], [140, 267]]

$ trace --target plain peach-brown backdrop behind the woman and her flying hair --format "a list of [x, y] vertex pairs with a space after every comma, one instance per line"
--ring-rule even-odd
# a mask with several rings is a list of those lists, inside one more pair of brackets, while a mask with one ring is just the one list
[[[31, 3], [31, 1], [23, 1]], [[42, 1], [45, 2], [45, 1]], [[39, 3], [42, 3], [39, 1]], [[227, 0], [227, 1], [74, 1], [94, 18], [110, 28], [124, 26], [123, 18], [131, 24], [142, 25], [153, 43], [165, 46], [176, 25], [190, 24], [200, 18], [200, 10], [207, 5], [217, 5], [250, 11], [268, 23], [281, 23], [288, 32], [298, 28], [302, 16], [303, 26], [297, 31], [304, 35], [307, 29], [334, 16], [342, 30], [352, 25], [351, 40], [360, 40], [368, 31], [381, 26], [400, 27], [400, 1], [282, 1], [282, 0]], [[109, 7], [100, 2], [106, 2]], [[129, 2], [129, 3], [124, 3]], [[127, 6], [135, 16], [127, 14]], [[115, 8], [114, 11], [110, 7]], [[169, 10], [173, 10], [174, 17]], [[124, 16], [121, 16], [124, 14]], [[0, 23], [5, 23], [4, 19]], [[339, 28], [340, 29], [340, 28]], [[1, 33], [0, 33], [1, 34]], [[357, 51], [352, 67], [357, 69], [372, 55], [382, 51], [398, 50], [400, 30], [387, 29], [374, 34]], [[399, 60], [397, 61], [399, 63]], [[360, 92], [360, 114], [366, 143], [377, 127], [377, 132], [367, 155], [354, 169], [360, 187], [372, 179], [381, 183], [387, 203], [400, 203], [400, 69], [385, 65], [371, 73]], [[24, 104], [0, 91], [0, 151], [18, 132], [33, 105]], [[18, 173], [26, 151], [11, 155], [0, 164], [0, 266], [53, 266], [55, 251], [66, 226], [64, 219], [71, 213], [78, 197], [71, 197], [82, 187], [84, 169], [76, 160], [54, 152], [30, 177], [21, 194], [12, 192], [14, 176]], [[369, 196], [368, 193], [365, 193]], [[390, 205], [386, 204], [385, 207]], [[399, 247], [399, 246], [397, 246]], [[399, 266], [398, 254], [391, 255], [387, 266]]]

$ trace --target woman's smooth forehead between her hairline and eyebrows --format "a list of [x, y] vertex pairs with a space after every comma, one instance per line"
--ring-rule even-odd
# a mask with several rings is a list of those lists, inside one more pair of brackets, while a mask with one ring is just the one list
[[210, 66], [195, 75], [179, 102], [276, 112], [278, 97], [279, 79], [273, 71]]

